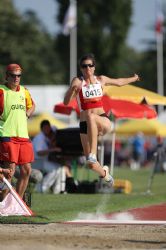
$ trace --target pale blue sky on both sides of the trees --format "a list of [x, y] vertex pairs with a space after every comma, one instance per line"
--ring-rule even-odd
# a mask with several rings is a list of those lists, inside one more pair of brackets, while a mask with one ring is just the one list
[[[166, 0], [161, 0], [166, 3]], [[36, 12], [46, 28], [55, 34], [60, 27], [56, 24], [56, 13], [58, 6], [54, 0], [13, 0], [14, 5], [20, 13], [26, 10]], [[156, 0], [133, 0], [132, 26], [130, 28], [127, 44], [137, 51], [147, 48], [145, 41], [155, 39], [152, 30], [156, 20]]]

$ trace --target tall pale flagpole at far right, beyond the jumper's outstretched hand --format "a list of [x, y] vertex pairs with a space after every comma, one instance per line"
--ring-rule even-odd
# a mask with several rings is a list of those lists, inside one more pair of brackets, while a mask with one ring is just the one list
[[[162, 15], [161, 3], [157, 1], [157, 11], [159, 15]], [[161, 18], [161, 16], [157, 17]], [[156, 27], [156, 43], [157, 43], [157, 91], [158, 94], [164, 96], [164, 72], [163, 72], [163, 30], [162, 30], [162, 20], [157, 20], [161, 22], [159, 25], [161, 27]], [[164, 106], [158, 106], [158, 112], [161, 113], [164, 110]]]

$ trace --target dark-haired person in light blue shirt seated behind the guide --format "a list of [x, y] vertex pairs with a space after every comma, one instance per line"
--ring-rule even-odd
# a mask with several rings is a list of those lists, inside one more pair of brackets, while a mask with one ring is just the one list
[[56, 128], [51, 127], [48, 120], [43, 120], [40, 125], [41, 132], [33, 138], [35, 162], [32, 167], [42, 171], [44, 177], [41, 183], [41, 192], [48, 192], [52, 189], [54, 194], [65, 192], [66, 167], [58, 162], [51, 161], [51, 152], [60, 152], [56, 147], [55, 132]]

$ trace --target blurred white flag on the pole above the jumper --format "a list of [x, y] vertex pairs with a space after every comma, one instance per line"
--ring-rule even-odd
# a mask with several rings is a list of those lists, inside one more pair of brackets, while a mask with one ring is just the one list
[[65, 14], [62, 33], [66, 36], [69, 35], [70, 30], [74, 28], [76, 24], [77, 24], [76, 2], [75, 0], [71, 0], [70, 5]]

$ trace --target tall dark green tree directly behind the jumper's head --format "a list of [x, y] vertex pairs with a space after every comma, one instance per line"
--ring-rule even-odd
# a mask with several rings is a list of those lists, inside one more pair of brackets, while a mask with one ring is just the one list
[[[68, 0], [57, 0], [58, 21], [63, 23]], [[131, 0], [77, 1], [77, 46], [78, 58], [85, 53], [94, 53], [97, 71], [113, 77], [118, 76], [119, 60], [130, 26], [132, 14]], [[69, 79], [69, 36], [57, 36], [57, 51], [60, 53], [65, 78]], [[133, 73], [133, 72], [132, 72]]]

